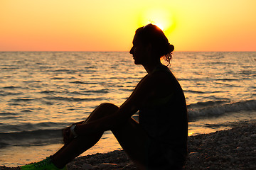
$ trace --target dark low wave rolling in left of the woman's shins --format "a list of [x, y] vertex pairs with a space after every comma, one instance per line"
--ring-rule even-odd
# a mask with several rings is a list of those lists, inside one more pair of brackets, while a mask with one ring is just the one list
[[[62, 142], [62, 129], [71, 123], [0, 124], [0, 148], [10, 146], [41, 146]], [[8, 131], [7, 131], [8, 130]]]

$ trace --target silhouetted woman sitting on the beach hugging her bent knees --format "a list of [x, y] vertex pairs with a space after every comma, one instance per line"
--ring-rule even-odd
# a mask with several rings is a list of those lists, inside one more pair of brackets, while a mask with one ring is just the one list
[[[138, 28], [130, 50], [146, 76], [118, 107], [102, 103], [90, 116], [63, 130], [64, 146], [41, 162], [21, 169], [66, 169], [66, 164], [111, 130], [138, 169], [182, 169], [187, 154], [188, 118], [183, 90], [168, 67], [174, 46], [152, 24]], [[139, 111], [139, 123], [131, 118]]]

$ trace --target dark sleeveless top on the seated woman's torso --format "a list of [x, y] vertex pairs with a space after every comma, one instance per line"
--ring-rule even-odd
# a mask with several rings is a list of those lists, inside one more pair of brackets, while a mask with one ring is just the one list
[[174, 87], [170, 88], [171, 91], [166, 91], [169, 95], [151, 99], [139, 109], [139, 124], [151, 140], [147, 147], [154, 159], [154, 154], [161, 153], [173, 163], [184, 164], [188, 137], [186, 100], [180, 84], [169, 68], [161, 66], [154, 69], [154, 72], [160, 71], [169, 74]]

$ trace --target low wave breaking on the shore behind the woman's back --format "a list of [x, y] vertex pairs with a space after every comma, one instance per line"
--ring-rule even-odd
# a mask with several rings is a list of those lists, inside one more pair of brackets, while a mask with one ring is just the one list
[[226, 103], [225, 101], [198, 102], [188, 105], [189, 121], [203, 117], [221, 116], [225, 113], [238, 111], [256, 111], [256, 101], [239, 101], [235, 103]]

